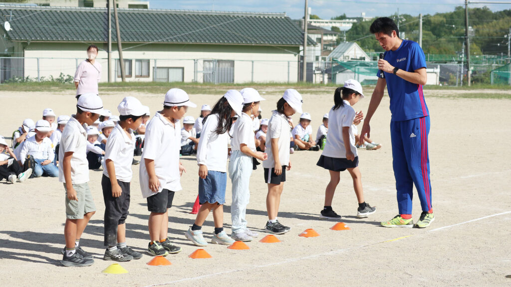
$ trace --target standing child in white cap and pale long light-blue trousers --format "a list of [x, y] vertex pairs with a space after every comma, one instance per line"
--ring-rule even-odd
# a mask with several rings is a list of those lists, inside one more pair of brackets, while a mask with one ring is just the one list
[[[245, 212], [250, 198], [249, 182], [252, 174], [252, 157], [266, 160], [268, 155], [255, 149], [254, 132], [251, 116], [256, 114], [259, 104], [264, 99], [253, 88], [244, 88], [240, 91], [243, 95], [243, 109], [241, 116], [234, 124], [231, 149], [233, 153], [229, 160], [229, 177], [233, 183], [233, 203], [230, 205], [231, 238], [235, 241], [252, 241], [252, 237], [259, 234], [247, 228]], [[259, 119], [258, 119], [259, 120]]]

